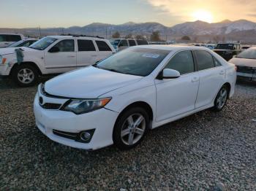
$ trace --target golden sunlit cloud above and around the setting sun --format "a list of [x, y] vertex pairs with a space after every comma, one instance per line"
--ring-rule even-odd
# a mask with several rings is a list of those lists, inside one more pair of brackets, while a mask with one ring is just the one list
[[207, 10], [214, 15], [214, 21], [225, 19], [255, 20], [255, 0], [142, 0], [153, 7], [167, 11], [170, 15], [181, 17], [182, 20], [192, 20], [192, 13], [197, 10]]

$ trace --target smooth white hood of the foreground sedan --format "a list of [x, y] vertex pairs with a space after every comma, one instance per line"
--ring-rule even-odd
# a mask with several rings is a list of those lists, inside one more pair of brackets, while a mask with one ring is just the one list
[[45, 83], [45, 91], [68, 98], [98, 98], [142, 78], [89, 66], [50, 79]]

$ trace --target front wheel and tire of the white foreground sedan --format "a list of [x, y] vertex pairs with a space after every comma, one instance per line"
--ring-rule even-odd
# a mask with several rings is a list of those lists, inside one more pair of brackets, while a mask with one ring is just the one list
[[140, 108], [128, 109], [118, 117], [113, 130], [113, 142], [118, 149], [127, 150], [136, 147], [148, 130], [149, 117]]

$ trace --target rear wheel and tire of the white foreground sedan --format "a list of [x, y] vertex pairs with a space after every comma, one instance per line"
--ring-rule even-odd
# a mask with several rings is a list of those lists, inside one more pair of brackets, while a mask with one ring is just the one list
[[227, 98], [228, 98], [229, 88], [227, 85], [223, 85], [222, 88], [220, 88], [219, 93], [217, 94], [215, 101], [214, 101], [214, 111], [220, 112], [227, 104]]

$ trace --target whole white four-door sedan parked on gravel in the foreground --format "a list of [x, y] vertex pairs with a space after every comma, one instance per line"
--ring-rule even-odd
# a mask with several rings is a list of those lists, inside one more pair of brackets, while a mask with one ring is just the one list
[[37, 127], [80, 149], [130, 149], [147, 130], [213, 108], [234, 93], [236, 67], [203, 47], [139, 46], [39, 85]]

